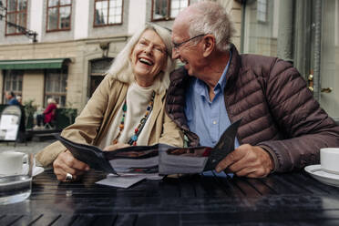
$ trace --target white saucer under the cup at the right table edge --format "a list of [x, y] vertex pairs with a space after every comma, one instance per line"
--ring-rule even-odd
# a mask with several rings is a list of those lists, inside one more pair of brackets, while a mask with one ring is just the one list
[[322, 170], [321, 165], [307, 166], [304, 170], [314, 179], [319, 180], [324, 184], [339, 187], [339, 174], [325, 172]]

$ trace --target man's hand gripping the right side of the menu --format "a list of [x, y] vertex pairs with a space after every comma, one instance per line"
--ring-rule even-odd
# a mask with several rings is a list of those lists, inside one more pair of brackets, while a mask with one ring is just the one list
[[222, 159], [216, 171], [229, 170], [239, 177], [264, 178], [273, 170], [270, 154], [258, 146], [244, 144]]

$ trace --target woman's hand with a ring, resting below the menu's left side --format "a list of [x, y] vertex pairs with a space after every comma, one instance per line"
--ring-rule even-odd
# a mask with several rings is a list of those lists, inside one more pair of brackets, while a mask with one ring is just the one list
[[66, 181], [67, 173], [72, 174], [73, 180], [77, 180], [79, 175], [89, 170], [89, 166], [73, 157], [67, 150], [60, 153], [53, 162], [54, 173], [57, 180]]

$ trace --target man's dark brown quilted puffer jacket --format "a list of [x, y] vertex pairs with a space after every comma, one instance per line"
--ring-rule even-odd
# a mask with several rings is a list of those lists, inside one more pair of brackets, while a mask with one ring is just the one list
[[[184, 115], [190, 76], [180, 67], [170, 79], [166, 111], [190, 139], [189, 145], [197, 146], [199, 138], [189, 131]], [[240, 144], [269, 151], [275, 171], [317, 164], [319, 149], [339, 147], [339, 126], [320, 108], [299, 72], [282, 59], [239, 55], [232, 46], [224, 98], [231, 122], [242, 118]]]

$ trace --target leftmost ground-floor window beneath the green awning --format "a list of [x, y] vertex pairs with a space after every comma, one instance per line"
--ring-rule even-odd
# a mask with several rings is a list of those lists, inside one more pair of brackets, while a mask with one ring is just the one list
[[[23, 70], [6, 70], [4, 78], [4, 93], [5, 92], [14, 92], [15, 96], [22, 96], [23, 91]], [[7, 100], [3, 99], [3, 103], [7, 103]]]

